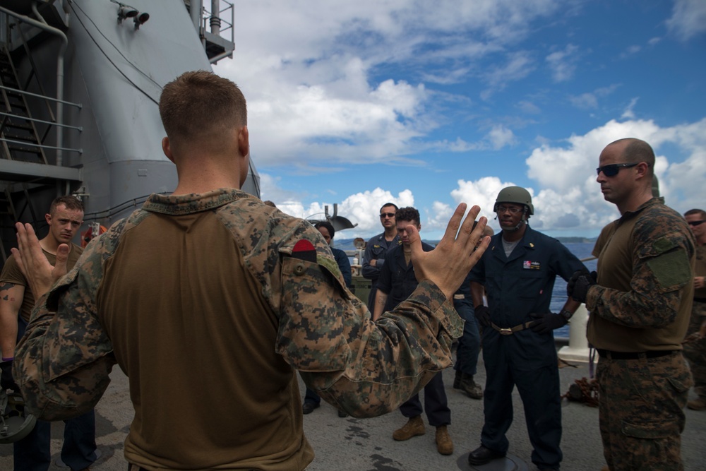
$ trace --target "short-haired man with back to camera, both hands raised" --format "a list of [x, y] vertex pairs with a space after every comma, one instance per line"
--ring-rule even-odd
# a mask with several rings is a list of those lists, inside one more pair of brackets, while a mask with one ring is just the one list
[[16, 225], [13, 254], [44, 294], [13, 365], [32, 410], [92, 409], [118, 364], [135, 408], [131, 470], [303, 470], [313, 450], [294, 370], [373, 417], [451, 365], [462, 321], [450, 299], [488, 244], [484, 217], [472, 230], [477, 206], [462, 222], [459, 205], [432, 252], [406, 228], [419, 286], [373, 323], [318, 230], [239, 190], [249, 130], [234, 83], [186, 72], [164, 86], [160, 115], [177, 188], [94, 239], [66, 276], [68, 246], [49, 266], [32, 227]]

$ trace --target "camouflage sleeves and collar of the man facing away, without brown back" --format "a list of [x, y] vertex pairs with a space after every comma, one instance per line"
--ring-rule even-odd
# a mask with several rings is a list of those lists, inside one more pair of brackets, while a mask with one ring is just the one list
[[[450, 346], [462, 333], [462, 320], [433, 283], [421, 282], [407, 301], [373, 323], [309, 222], [234, 189], [152, 195], [142, 209], [94, 239], [33, 311], [14, 364], [33, 413], [48, 420], [80, 415], [107, 387], [116, 359], [98, 321], [96, 293], [110, 282], [103, 280], [103, 264], [123, 234], [150, 213], [207, 210], [241, 242], [246, 268], [279, 319], [271, 347], [325, 400], [354, 417], [381, 415], [451, 366]], [[302, 239], [313, 244], [316, 261], [293, 256]]]

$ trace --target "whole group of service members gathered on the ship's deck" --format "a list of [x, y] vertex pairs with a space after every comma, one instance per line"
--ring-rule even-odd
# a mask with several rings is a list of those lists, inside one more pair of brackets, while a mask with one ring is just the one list
[[[606, 469], [682, 469], [683, 408], [706, 408], [706, 213], [692, 210], [685, 218], [652, 194], [650, 145], [620, 139], [599, 155], [597, 182], [621, 217], [597, 239], [593, 273], [527, 224], [534, 205], [520, 187], [498, 193], [493, 210], [501, 232], [481, 237], [486, 218], [473, 229], [480, 208], [462, 203], [433, 250], [419, 241], [416, 209], [383, 205], [384, 232], [371, 239], [363, 261], [374, 285], [371, 320], [346, 291], [349, 267], [333, 266], [334, 260], [347, 263], [345, 254], [330, 251], [333, 226], [315, 229], [240, 191], [250, 146], [237, 85], [206, 71], [183, 73], [164, 85], [160, 116], [167, 133], [162, 150], [177, 167], [177, 188], [150, 195], [88, 244], [73, 270], [66, 273], [66, 265], [78, 254], [71, 239], [82, 207], [56, 202], [47, 214], [50, 235], [41, 241], [32, 225], [16, 225], [18, 249], [12, 251], [24, 278], [6, 278], [0, 286], [0, 379], [2, 388], [22, 393], [26, 410], [39, 419], [90, 415], [119, 364], [135, 405], [124, 446], [131, 471], [303, 470], [313, 450], [293, 393], [298, 370], [340, 415], [375, 417], [400, 406], [408, 420], [393, 432], [396, 440], [423, 434], [426, 412], [438, 452], [450, 454], [450, 410], [438, 383], [450, 365], [451, 339], [460, 337], [454, 386], [484, 399], [480, 446], [470, 451], [469, 464], [508, 452], [516, 386], [532, 462], [557, 470], [561, 408], [552, 332], [585, 303], [587, 338], [600, 356]], [[465, 210], [469, 217], [462, 220]], [[143, 250], [127, 249], [135, 246]], [[214, 282], [194, 283], [179, 263]], [[424, 280], [417, 281], [414, 268]], [[568, 282], [568, 299], [554, 313], [549, 303], [557, 275]], [[220, 282], [246, 279], [229, 290]], [[21, 292], [13, 291], [18, 287]], [[28, 297], [27, 287], [37, 303], [15, 345], [18, 328], [25, 327], [18, 326], [18, 299]], [[438, 322], [420, 321], [430, 316]], [[474, 381], [473, 321], [482, 328], [484, 388]], [[407, 341], [398, 341], [403, 337]], [[185, 347], [184, 338], [193, 343]], [[354, 367], [359, 364], [366, 371]], [[213, 371], [217, 380], [208, 377]], [[410, 396], [424, 384], [422, 407], [418, 395]], [[688, 401], [691, 386], [698, 398]], [[164, 394], [173, 390], [180, 393]], [[248, 420], [237, 419], [243, 415]], [[76, 464], [66, 463], [72, 469], [95, 463], [95, 441], [89, 442]], [[44, 442], [32, 445], [48, 450]], [[21, 463], [27, 457], [17, 447], [14, 453], [15, 469], [29, 469]]]

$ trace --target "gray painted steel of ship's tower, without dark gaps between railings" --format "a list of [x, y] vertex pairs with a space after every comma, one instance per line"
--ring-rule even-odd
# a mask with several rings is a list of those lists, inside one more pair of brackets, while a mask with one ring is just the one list
[[[171, 192], [177, 186], [176, 169], [162, 153], [165, 133], [157, 103], [162, 87], [179, 74], [212, 69], [184, 2], [129, 3], [150, 13], [137, 30], [131, 18], [118, 23], [119, 6], [109, 0], [64, 2], [68, 11], [64, 100], [79, 105], [64, 106], [64, 123], [81, 131], [62, 128], [59, 132], [64, 147], [81, 152], [65, 151], [62, 167], [54, 165], [53, 150], [45, 151], [51, 165], [0, 159], [0, 185], [11, 191], [18, 208], [25, 206], [18, 182], [49, 182], [48, 186], [33, 186], [30, 203], [35, 214], [44, 215], [49, 202], [68, 188], [83, 196], [87, 221], [94, 218], [108, 226], [127, 215], [135, 201], [153, 192]], [[40, 9], [49, 20], [61, 17], [60, 7], [61, 2], [56, 2]], [[31, 15], [26, 9], [23, 13]], [[37, 80], [44, 93], [53, 97], [60, 41], [29, 25], [23, 30], [31, 38]], [[20, 83], [25, 83], [32, 71], [30, 62], [17, 37], [12, 45]], [[28, 91], [42, 94], [32, 81]], [[32, 118], [52, 121], [43, 100], [31, 97], [30, 105]], [[56, 105], [51, 106], [55, 109]], [[50, 129], [42, 144], [54, 145], [56, 133], [55, 127]], [[259, 196], [259, 176], [252, 162], [244, 190]], [[25, 222], [37, 219], [28, 211], [16, 217]], [[13, 238], [10, 219], [2, 223], [4, 241]], [[41, 223], [39, 219], [35, 222]]]

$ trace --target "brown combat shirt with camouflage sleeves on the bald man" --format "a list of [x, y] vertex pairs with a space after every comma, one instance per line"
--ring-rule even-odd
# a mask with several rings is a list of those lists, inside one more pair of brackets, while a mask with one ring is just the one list
[[588, 340], [618, 352], [681, 350], [693, 297], [695, 239], [684, 218], [652, 198], [606, 227], [590, 287]]

